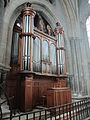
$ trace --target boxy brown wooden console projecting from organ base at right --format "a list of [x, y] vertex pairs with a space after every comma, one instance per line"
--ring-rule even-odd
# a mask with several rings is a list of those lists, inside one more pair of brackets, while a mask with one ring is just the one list
[[47, 106], [58, 106], [71, 103], [70, 88], [50, 88], [47, 91]]

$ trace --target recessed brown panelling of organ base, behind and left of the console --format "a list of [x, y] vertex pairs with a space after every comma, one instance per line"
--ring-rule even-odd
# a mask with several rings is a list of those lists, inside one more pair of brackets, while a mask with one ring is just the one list
[[47, 77], [47, 76], [45, 77], [42, 75], [34, 76], [33, 90], [32, 90], [33, 106], [42, 105], [43, 99], [46, 99], [45, 101], [47, 101], [47, 89], [52, 87], [55, 87], [55, 88], [66, 87], [66, 82], [64, 78], [55, 78], [55, 77]]

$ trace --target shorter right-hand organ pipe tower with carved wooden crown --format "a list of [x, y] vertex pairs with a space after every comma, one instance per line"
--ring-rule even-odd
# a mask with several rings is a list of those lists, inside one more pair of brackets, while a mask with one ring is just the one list
[[58, 60], [58, 74], [64, 74], [65, 70], [65, 49], [63, 39], [63, 29], [60, 23], [56, 23], [55, 33], [57, 37], [57, 60]]

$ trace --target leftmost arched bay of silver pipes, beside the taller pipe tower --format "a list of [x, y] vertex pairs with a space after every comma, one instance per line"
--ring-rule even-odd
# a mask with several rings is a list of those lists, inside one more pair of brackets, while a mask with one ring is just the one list
[[40, 71], [40, 39], [33, 40], [33, 71]]

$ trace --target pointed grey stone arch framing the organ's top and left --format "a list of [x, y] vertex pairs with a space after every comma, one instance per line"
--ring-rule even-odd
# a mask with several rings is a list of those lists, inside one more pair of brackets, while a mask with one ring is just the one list
[[[27, 0], [28, 2], [28, 0]], [[33, 8], [35, 10], [42, 11], [44, 16], [47, 18], [50, 24], [54, 25], [57, 22], [56, 15], [54, 9], [48, 6], [47, 2], [43, 4], [41, 1], [32, 0], [30, 1], [33, 3]], [[3, 20], [3, 34], [2, 34], [2, 41], [4, 43], [4, 47], [2, 51], [4, 52], [2, 55], [2, 63], [5, 66], [9, 66], [10, 64], [10, 55], [11, 55], [11, 42], [12, 42], [12, 30], [14, 23], [17, 17], [20, 15], [21, 10], [23, 8], [25, 1], [20, 0], [19, 3], [15, 1], [11, 3], [6, 9], [4, 20]], [[14, 5], [14, 6], [13, 6]], [[45, 6], [45, 7], [43, 7]], [[11, 11], [10, 11], [11, 10]], [[10, 11], [10, 12], [9, 12]], [[54, 23], [54, 24], [53, 24]]]

